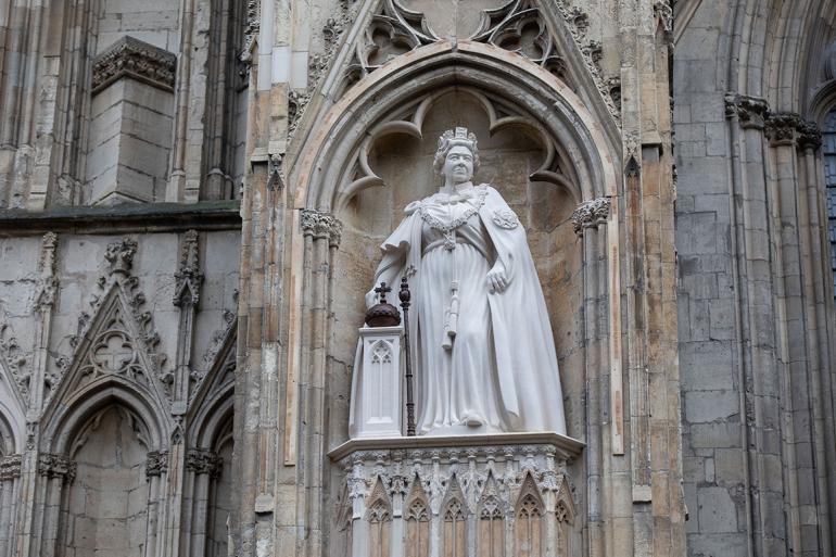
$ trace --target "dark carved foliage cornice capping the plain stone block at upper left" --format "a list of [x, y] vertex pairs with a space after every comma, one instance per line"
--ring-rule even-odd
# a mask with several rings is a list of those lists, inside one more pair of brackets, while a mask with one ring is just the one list
[[174, 92], [177, 56], [125, 36], [93, 61], [92, 94], [123, 77], [132, 77], [157, 89]]

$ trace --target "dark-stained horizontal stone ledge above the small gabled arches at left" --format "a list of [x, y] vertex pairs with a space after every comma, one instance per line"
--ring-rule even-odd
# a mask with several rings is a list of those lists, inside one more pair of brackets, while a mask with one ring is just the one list
[[232, 200], [190, 204], [126, 203], [106, 207], [59, 206], [41, 212], [0, 210], [2, 236], [39, 235], [45, 231], [165, 232], [189, 228], [240, 229], [240, 202]]

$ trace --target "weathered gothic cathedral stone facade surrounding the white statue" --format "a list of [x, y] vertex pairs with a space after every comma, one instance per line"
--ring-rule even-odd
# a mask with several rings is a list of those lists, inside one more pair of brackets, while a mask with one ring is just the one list
[[[834, 554], [835, 7], [0, 2], [0, 557]], [[571, 439], [350, 440], [456, 126]]]

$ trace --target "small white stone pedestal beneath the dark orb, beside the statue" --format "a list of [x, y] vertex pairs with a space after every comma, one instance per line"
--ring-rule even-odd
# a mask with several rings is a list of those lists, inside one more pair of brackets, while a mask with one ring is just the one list
[[363, 354], [354, 371], [351, 436], [400, 438], [404, 414], [404, 328], [362, 327], [359, 333]]

